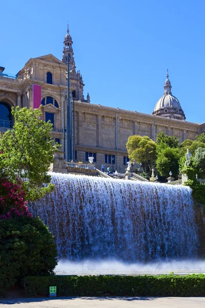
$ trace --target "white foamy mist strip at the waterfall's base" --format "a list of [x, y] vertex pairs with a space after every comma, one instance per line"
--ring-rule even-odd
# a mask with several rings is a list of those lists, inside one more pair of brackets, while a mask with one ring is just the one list
[[115, 260], [86, 260], [69, 262], [59, 260], [55, 268], [57, 275], [151, 275], [192, 273], [205, 274], [205, 260], [171, 260], [167, 262], [123, 263]]

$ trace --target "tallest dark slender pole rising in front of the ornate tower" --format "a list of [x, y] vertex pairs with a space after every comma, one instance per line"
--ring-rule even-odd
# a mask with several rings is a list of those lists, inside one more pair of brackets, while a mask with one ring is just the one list
[[69, 60], [70, 54], [67, 55], [68, 61], [68, 97], [67, 97], [67, 151], [66, 151], [66, 161], [69, 162], [72, 159], [72, 142], [71, 142], [71, 126], [70, 126], [70, 117], [71, 117], [71, 110], [70, 110], [70, 81], [69, 81]]

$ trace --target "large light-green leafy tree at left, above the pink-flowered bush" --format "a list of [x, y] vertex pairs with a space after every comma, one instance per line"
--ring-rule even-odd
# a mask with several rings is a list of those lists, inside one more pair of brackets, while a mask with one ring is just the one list
[[47, 171], [59, 146], [53, 145], [52, 124], [41, 120], [40, 109], [16, 107], [12, 114], [13, 129], [0, 135], [0, 172], [11, 182], [23, 180], [26, 198], [35, 200], [53, 189]]

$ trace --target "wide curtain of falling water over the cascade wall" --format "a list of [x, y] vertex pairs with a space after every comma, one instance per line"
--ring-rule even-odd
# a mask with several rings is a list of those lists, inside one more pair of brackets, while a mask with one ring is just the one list
[[127, 262], [196, 256], [189, 187], [52, 173], [55, 189], [30, 205], [59, 259]]

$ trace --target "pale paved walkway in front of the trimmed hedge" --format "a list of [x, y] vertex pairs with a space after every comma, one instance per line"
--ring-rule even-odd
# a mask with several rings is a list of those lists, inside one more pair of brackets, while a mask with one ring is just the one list
[[205, 297], [61, 297], [0, 300], [1, 308], [9, 306], [10, 308], [204, 308]]

